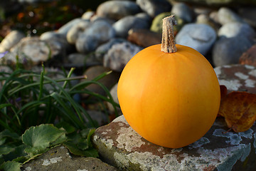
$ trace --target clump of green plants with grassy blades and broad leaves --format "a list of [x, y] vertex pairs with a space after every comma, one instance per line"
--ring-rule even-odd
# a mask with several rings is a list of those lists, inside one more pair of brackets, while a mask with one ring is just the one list
[[[72, 85], [71, 81], [86, 78], [72, 76], [74, 69], [63, 71], [58, 79], [50, 78], [43, 65], [41, 73], [21, 68], [0, 72], [1, 170], [19, 170], [56, 145], [65, 145], [74, 155], [97, 157], [90, 137], [98, 125], [74, 97], [87, 93], [100, 104], [106, 101], [117, 108], [109, 90], [98, 82], [111, 72]], [[87, 90], [90, 84], [99, 85], [107, 95]]]

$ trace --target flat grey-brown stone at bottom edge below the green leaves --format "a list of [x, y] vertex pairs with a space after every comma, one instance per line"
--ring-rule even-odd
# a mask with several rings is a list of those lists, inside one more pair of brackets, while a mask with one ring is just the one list
[[117, 168], [94, 157], [75, 157], [63, 146], [55, 147], [36, 160], [23, 165], [22, 171], [117, 171]]

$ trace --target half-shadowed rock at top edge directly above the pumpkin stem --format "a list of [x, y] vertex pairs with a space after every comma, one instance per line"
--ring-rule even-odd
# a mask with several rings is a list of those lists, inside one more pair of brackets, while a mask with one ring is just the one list
[[166, 0], [136, 0], [136, 3], [152, 18], [163, 12], [171, 11], [171, 4]]

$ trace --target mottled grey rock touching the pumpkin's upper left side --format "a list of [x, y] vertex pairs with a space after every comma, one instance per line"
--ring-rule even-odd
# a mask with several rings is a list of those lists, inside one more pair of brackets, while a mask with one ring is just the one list
[[103, 58], [103, 66], [121, 72], [128, 61], [142, 48], [127, 42], [114, 44]]

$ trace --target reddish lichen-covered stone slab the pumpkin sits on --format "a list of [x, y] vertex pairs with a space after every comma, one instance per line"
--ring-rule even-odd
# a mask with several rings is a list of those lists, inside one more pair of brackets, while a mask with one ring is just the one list
[[[222, 66], [215, 68], [215, 72], [220, 84], [229, 91], [256, 93], [255, 67]], [[203, 138], [186, 147], [171, 149], [142, 138], [122, 115], [97, 128], [92, 141], [102, 160], [119, 170], [256, 170], [256, 124], [243, 133], [225, 133], [228, 129], [224, 118], [217, 118]]]

